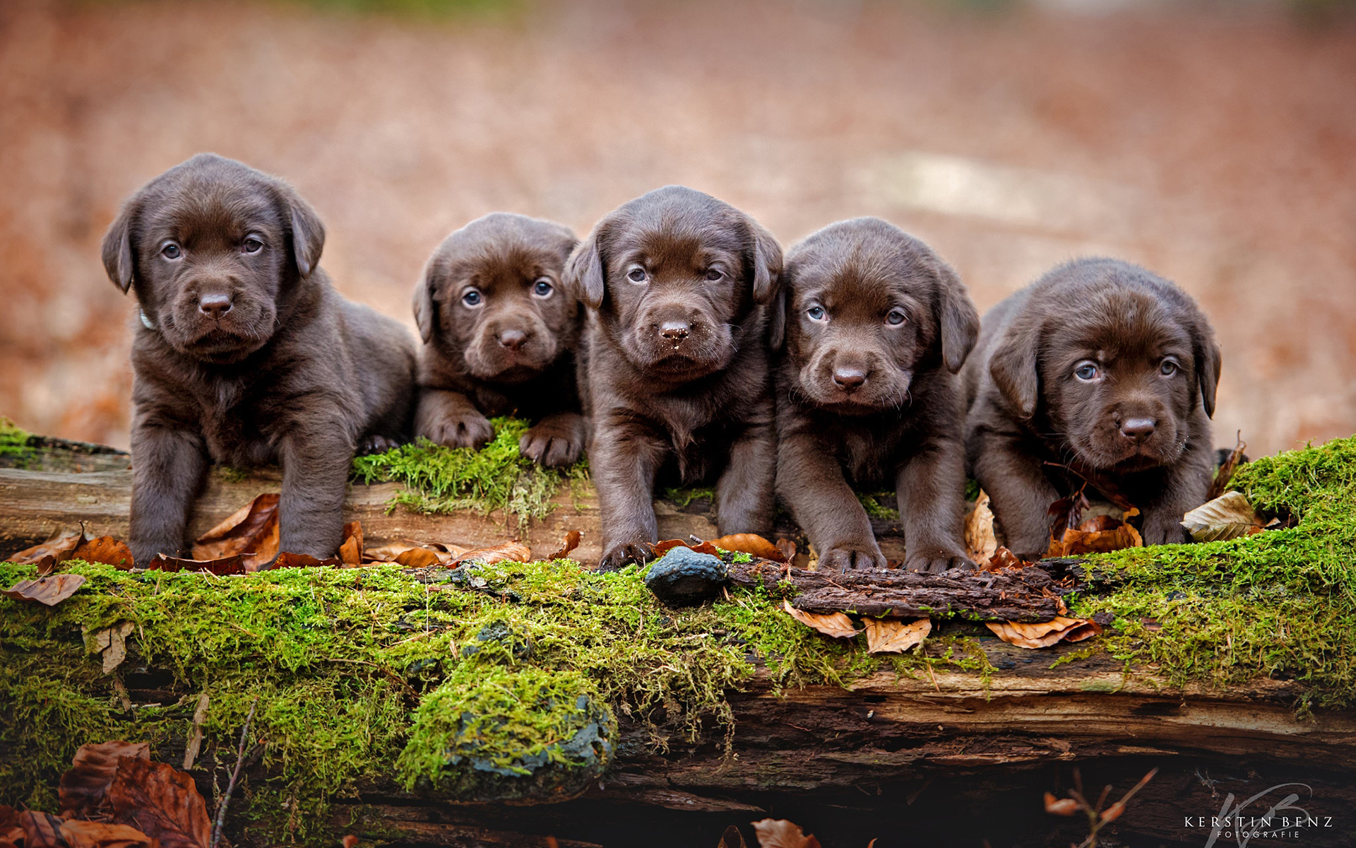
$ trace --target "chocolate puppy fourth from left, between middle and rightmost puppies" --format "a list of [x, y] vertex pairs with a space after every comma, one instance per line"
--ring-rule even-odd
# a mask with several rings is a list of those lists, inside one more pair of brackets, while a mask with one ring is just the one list
[[960, 278], [898, 227], [853, 218], [792, 247], [782, 285], [777, 495], [820, 567], [885, 566], [853, 494], [884, 484], [898, 493], [907, 568], [974, 567], [956, 372], [979, 316]]

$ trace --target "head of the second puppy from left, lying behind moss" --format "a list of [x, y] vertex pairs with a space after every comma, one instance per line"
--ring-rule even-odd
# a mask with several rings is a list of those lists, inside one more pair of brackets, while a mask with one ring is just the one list
[[578, 242], [560, 224], [503, 212], [452, 233], [415, 289], [423, 341], [481, 380], [540, 373], [578, 334], [579, 304], [560, 282]]

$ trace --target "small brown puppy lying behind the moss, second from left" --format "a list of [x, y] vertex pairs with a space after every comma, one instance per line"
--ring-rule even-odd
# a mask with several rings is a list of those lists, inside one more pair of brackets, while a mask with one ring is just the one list
[[574, 349], [583, 312], [560, 275], [579, 239], [568, 228], [496, 212], [438, 246], [415, 289], [419, 355], [415, 431], [450, 448], [494, 437], [487, 415], [536, 421], [519, 448], [572, 465], [586, 427]]

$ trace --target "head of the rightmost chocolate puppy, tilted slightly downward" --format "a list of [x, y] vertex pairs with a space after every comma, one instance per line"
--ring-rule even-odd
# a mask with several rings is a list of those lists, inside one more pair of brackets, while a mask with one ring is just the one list
[[1018, 417], [1037, 407], [1100, 469], [1172, 464], [1197, 404], [1215, 411], [1220, 357], [1195, 301], [1113, 259], [1083, 259], [1036, 284], [990, 373]]

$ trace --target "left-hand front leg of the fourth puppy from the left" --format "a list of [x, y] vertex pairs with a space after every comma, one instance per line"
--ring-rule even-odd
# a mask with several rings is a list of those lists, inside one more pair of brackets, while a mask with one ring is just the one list
[[777, 494], [819, 552], [819, 567], [884, 568], [866, 509], [843, 478], [838, 459], [808, 433], [777, 446]]

